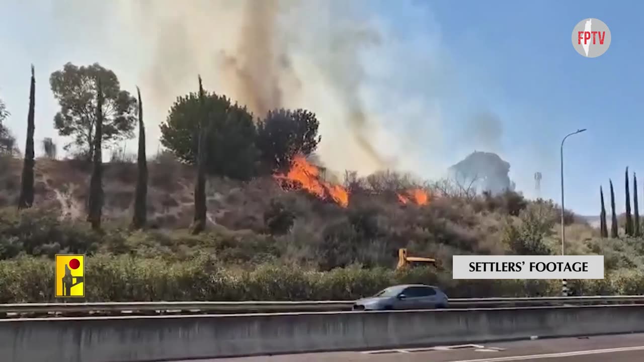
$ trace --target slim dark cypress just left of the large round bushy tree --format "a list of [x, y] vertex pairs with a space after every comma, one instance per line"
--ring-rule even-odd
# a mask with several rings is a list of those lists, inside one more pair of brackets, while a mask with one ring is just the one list
[[134, 200], [134, 216], [132, 225], [140, 229], [146, 225], [147, 211], [147, 160], [146, 160], [146, 128], [143, 124], [143, 103], [141, 102], [141, 91], [137, 87], [138, 94], [138, 177], [137, 189]]

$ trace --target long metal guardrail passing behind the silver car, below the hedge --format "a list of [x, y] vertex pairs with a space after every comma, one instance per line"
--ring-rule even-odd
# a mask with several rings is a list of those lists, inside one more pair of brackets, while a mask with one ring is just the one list
[[[644, 296], [574, 296], [539, 298], [454, 298], [450, 309], [471, 307], [528, 307], [540, 305], [644, 303]], [[108, 303], [0, 304], [0, 314], [166, 314], [203, 312], [300, 312], [350, 310], [354, 301], [153, 301]]]

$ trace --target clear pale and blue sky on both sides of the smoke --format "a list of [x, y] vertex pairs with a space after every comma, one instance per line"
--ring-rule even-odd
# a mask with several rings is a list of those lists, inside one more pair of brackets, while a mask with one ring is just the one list
[[[74, 12], [61, 12], [64, 6], [47, 0], [0, 3], [0, 97], [12, 112], [7, 124], [21, 145], [31, 62], [36, 64], [39, 86], [39, 139], [55, 137], [51, 119], [57, 106], [48, 76], [64, 62], [108, 64], [126, 88], [140, 84], [150, 62], [135, 53], [143, 42], [136, 39], [146, 38], [133, 33], [135, 26], [122, 13], [99, 1], [61, 3], [73, 4]], [[432, 132], [431, 122], [404, 126], [406, 132], [416, 133], [415, 158], [420, 163], [443, 167], [474, 149], [495, 151], [510, 162], [511, 178], [521, 191], [535, 196], [533, 175], [540, 171], [541, 195], [558, 202], [559, 144], [567, 133], [587, 128], [566, 141], [566, 206], [578, 213], [598, 214], [599, 186], [607, 187], [612, 178], [618, 210], [622, 210], [626, 166], [641, 174], [643, 204], [644, 72], [640, 64], [644, 50], [633, 46], [643, 3], [374, 0], [364, 4], [370, 14], [390, 24], [387, 35], [392, 46], [385, 49], [402, 50], [388, 54], [391, 63], [399, 62], [404, 68], [413, 62], [414, 71], [398, 71], [404, 77], [397, 77], [397, 94], [409, 99], [421, 95], [422, 111], [427, 104], [439, 104], [435, 110], [440, 113], [440, 131], [433, 138], [425, 138]], [[101, 16], [93, 17], [97, 8]], [[601, 19], [612, 34], [609, 50], [594, 59], [578, 55], [571, 44], [573, 27], [587, 17]], [[93, 37], [103, 37], [106, 44], [97, 46]], [[151, 45], [142, 48], [148, 52]], [[384, 77], [385, 82], [388, 79]], [[440, 86], [430, 87], [430, 82]], [[177, 90], [176, 95], [180, 93]], [[144, 92], [144, 102], [145, 98]], [[157, 118], [162, 119], [166, 111], [156, 111]], [[500, 120], [484, 140], [471, 130], [478, 129], [471, 119], [481, 112]], [[383, 127], [404, 133], [394, 126]], [[334, 137], [329, 129], [323, 139]], [[428, 139], [439, 146], [429, 145]], [[128, 147], [134, 144], [131, 140]]]

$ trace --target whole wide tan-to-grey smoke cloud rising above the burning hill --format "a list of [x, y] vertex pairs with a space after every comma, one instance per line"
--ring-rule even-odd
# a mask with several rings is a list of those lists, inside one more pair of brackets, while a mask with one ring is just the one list
[[122, 88], [140, 86], [151, 152], [157, 125], [201, 75], [257, 118], [316, 113], [330, 169], [431, 177], [448, 166], [437, 95], [451, 80], [438, 66], [439, 30], [413, 0], [61, 0], [39, 14], [50, 17], [48, 71], [100, 62]]

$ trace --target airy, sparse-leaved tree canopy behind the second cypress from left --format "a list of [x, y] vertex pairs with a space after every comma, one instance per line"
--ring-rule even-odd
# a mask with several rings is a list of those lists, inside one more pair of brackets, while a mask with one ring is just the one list
[[76, 146], [91, 160], [93, 132], [97, 120], [97, 79], [103, 90], [102, 141], [110, 142], [134, 137], [137, 100], [120, 89], [117, 75], [99, 63], [75, 66], [68, 62], [50, 77], [53, 95], [61, 110], [54, 116], [54, 128], [60, 135], [71, 136], [65, 146]]

